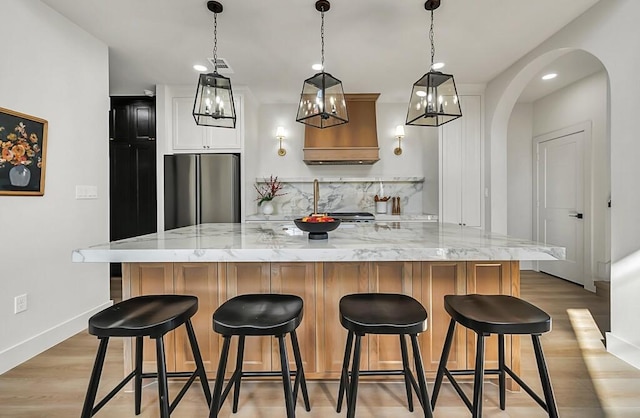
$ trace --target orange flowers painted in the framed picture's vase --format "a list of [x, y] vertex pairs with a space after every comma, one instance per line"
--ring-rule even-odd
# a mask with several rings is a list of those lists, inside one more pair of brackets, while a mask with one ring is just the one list
[[42, 151], [38, 144], [39, 138], [35, 133], [29, 134], [24, 123], [20, 122], [13, 132], [6, 134], [5, 127], [0, 126], [0, 168], [5, 164], [30, 165], [36, 161], [38, 168], [42, 168]]

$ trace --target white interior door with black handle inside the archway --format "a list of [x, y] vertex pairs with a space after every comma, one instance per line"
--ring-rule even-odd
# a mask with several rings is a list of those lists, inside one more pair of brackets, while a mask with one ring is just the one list
[[584, 132], [538, 146], [538, 240], [566, 248], [564, 261], [540, 262], [540, 271], [584, 285]]

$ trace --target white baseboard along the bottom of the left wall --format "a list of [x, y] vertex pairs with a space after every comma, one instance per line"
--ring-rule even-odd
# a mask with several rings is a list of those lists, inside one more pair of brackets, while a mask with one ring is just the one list
[[61, 343], [87, 328], [89, 318], [101, 310], [113, 305], [113, 301], [105, 302], [48, 330], [30, 337], [0, 352], [0, 374], [3, 374], [21, 363], [37, 356], [45, 350]]

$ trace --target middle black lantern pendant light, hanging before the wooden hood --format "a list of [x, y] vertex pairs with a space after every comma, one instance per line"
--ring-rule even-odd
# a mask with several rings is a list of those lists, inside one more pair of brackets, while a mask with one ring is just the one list
[[330, 128], [349, 122], [347, 104], [344, 100], [342, 82], [324, 72], [324, 13], [331, 4], [327, 0], [318, 0], [316, 10], [322, 16], [320, 38], [322, 40], [322, 69], [319, 73], [304, 81], [297, 122], [316, 128]]

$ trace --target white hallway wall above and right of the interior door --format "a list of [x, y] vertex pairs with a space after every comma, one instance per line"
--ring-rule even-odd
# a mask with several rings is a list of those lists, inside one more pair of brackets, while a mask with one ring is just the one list
[[583, 122], [591, 125], [590, 161], [585, 162], [585, 193], [587, 216], [585, 222], [585, 287], [593, 288], [598, 278], [598, 265], [608, 263], [610, 248], [605, 238], [611, 235], [607, 202], [611, 195], [609, 135], [607, 124], [608, 79], [602, 71], [585, 77], [554, 94], [550, 94], [533, 105], [533, 136], [554, 132]]

